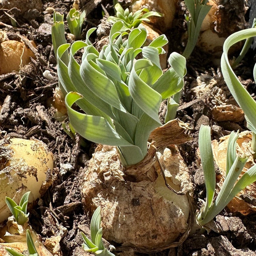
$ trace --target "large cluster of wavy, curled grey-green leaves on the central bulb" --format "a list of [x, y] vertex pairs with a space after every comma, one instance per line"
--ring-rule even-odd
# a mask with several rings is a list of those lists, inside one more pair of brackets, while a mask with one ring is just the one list
[[[101, 52], [89, 41], [95, 28], [88, 30], [85, 42], [63, 44], [57, 50], [58, 76], [65, 93], [70, 123], [75, 131], [95, 143], [117, 146], [124, 166], [136, 164], [147, 154], [150, 133], [161, 126], [158, 111], [163, 100], [179, 92], [184, 85], [186, 60], [172, 53], [171, 68], [163, 73], [159, 54], [168, 43], [160, 35], [144, 46], [147, 32], [143, 25], [127, 37], [123, 21], [116, 21], [109, 44]], [[126, 36], [126, 38], [124, 38]], [[69, 52], [69, 63], [62, 60]], [[84, 49], [82, 63], [74, 58]], [[136, 59], [141, 54], [142, 59]], [[84, 111], [76, 111], [77, 103]]]

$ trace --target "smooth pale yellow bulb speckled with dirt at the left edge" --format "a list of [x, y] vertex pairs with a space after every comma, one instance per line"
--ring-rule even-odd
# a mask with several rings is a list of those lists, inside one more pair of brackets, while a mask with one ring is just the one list
[[0, 141], [0, 222], [11, 215], [5, 196], [19, 202], [31, 191], [29, 202], [40, 198], [52, 184], [53, 154], [39, 140]]

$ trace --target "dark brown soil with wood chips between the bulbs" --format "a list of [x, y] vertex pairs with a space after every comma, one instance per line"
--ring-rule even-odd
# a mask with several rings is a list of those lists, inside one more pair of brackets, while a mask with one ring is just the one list
[[[90, 1], [85, 1], [90, 2]], [[93, 2], [93, 1], [91, 1]], [[121, 1], [120, 1], [121, 2]], [[123, 1], [127, 5], [128, 1]], [[90, 13], [83, 26], [83, 36], [88, 29], [98, 26], [102, 19], [102, 10], [113, 15], [113, 3], [110, 0], [94, 1], [90, 6]], [[81, 170], [86, 167], [95, 149], [95, 144], [84, 140], [79, 135], [71, 138], [65, 133], [62, 122], [54, 118], [56, 109], [50, 105], [54, 88], [58, 85], [56, 59], [54, 57], [51, 41], [51, 24], [53, 14], [49, 8], [67, 15], [73, 1], [43, 1], [43, 11], [30, 10], [21, 15], [16, 6], [12, 10], [17, 21], [17, 27], [13, 27], [9, 17], [0, 10], [0, 28], [5, 30], [8, 37], [22, 34], [30, 40], [34, 40], [37, 47], [37, 58], [21, 69], [20, 72], [12, 72], [0, 75], [0, 138], [4, 136], [18, 138], [36, 138], [48, 145], [54, 154], [54, 183], [44, 194], [37, 205], [30, 207], [30, 224], [42, 236], [62, 236], [60, 248], [62, 255], [90, 255], [82, 251], [82, 239], [80, 231], [89, 235], [90, 216], [84, 212], [81, 204], [80, 182]], [[255, 6], [254, 6], [255, 7]], [[251, 8], [253, 10], [253, 8]], [[248, 10], [249, 13], [250, 9]], [[175, 17], [172, 28], [165, 34], [170, 40], [170, 51], [182, 53], [181, 31], [185, 31], [183, 22], [184, 13]], [[249, 16], [246, 18], [249, 21]], [[66, 31], [68, 28], [66, 26]], [[92, 36], [92, 42], [98, 38]], [[236, 74], [248, 91], [255, 97], [255, 83], [252, 79], [252, 68], [255, 52], [250, 49], [245, 60]], [[52, 80], [43, 76], [43, 72], [49, 70], [53, 75]], [[230, 134], [232, 130], [246, 130], [244, 119], [236, 121], [216, 121], [212, 109], [216, 105], [215, 98], [219, 89], [225, 92], [226, 99], [230, 93], [223, 81], [219, 67], [212, 62], [211, 55], [203, 53], [195, 48], [187, 62], [188, 73], [185, 77], [185, 88], [182, 93], [180, 107], [177, 113], [183, 122], [190, 123], [190, 135], [194, 138], [188, 143], [179, 146], [179, 149], [190, 168], [192, 181], [194, 182], [194, 210], [199, 210], [199, 199], [205, 198], [205, 186], [202, 170], [197, 160], [198, 131], [202, 123], [212, 127], [212, 139], [219, 139], [223, 135]], [[215, 79], [215, 83], [209, 93], [195, 96], [192, 85], [199, 75], [208, 79]], [[160, 117], [164, 115], [164, 107]], [[67, 122], [67, 119], [64, 120]], [[83, 142], [83, 146], [81, 146]], [[256, 214], [247, 216], [231, 214], [223, 210], [216, 217], [219, 225], [219, 233], [198, 231], [191, 235], [181, 246], [162, 252], [153, 253], [154, 256], [182, 256], [182, 255], [256, 255]], [[109, 241], [111, 242], [111, 241]], [[138, 256], [149, 254], [135, 253]]]

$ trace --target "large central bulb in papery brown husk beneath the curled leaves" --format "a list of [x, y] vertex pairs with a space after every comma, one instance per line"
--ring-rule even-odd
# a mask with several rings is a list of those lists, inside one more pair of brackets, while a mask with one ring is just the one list
[[[182, 127], [179, 120], [170, 122], [183, 131], [179, 133], [175, 125], [175, 130], [169, 128], [172, 142], [190, 139], [184, 134], [185, 124]], [[160, 133], [164, 133], [162, 130], [165, 129], [160, 129]], [[147, 253], [161, 251], [188, 227], [188, 199], [165, 186], [155, 158], [156, 150], [162, 147], [160, 144], [155, 147], [152, 142], [142, 162], [124, 169], [115, 147], [99, 145], [84, 169], [84, 208], [92, 213], [101, 206], [104, 238], [121, 244], [124, 251], [130, 248]], [[191, 191], [187, 166], [177, 148], [174, 149], [172, 153], [169, 149], [162, 150], [159, 155], [166, 179], [176, 191]]]

